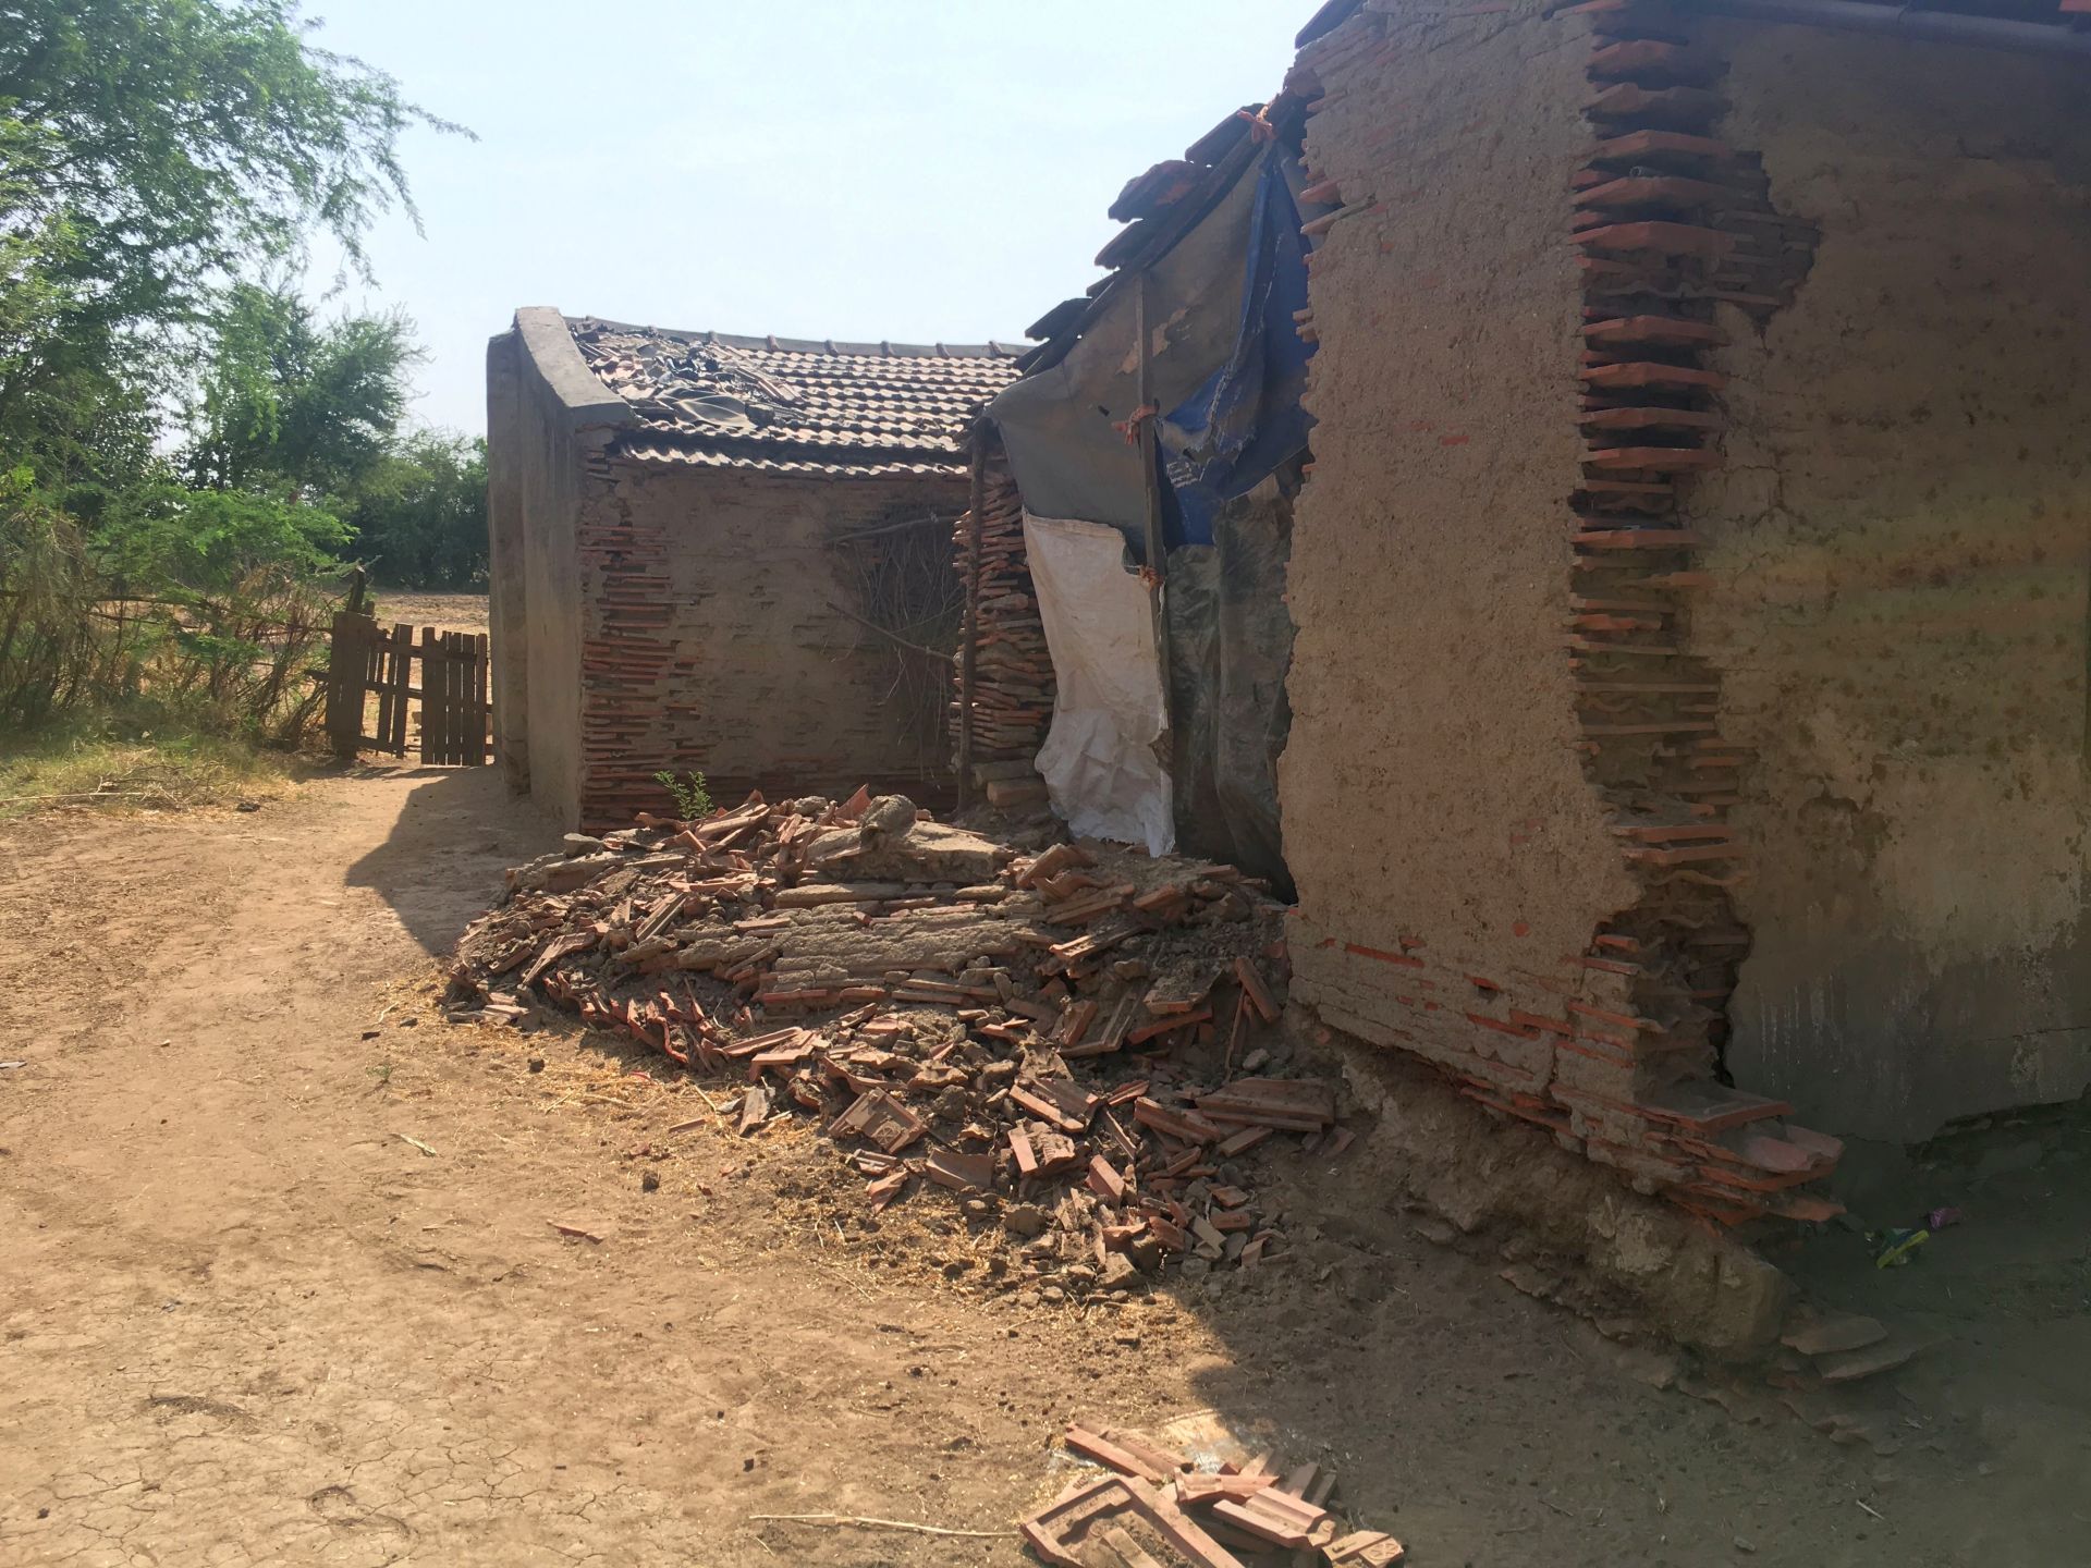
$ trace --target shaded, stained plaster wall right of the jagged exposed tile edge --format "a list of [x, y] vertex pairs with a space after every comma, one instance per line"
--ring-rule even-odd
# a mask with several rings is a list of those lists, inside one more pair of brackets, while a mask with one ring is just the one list
[[1738, 1083], [1913, 1139], [2091, 1081], [2091, 105], [2074, 65], [1710, 25], [1721, 134], [1817, 222], [1729, 316], [1694, 652], [1754, 748]]

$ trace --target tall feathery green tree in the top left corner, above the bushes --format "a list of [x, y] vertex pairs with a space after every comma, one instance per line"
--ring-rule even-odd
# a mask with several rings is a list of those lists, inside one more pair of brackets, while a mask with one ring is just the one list
[[314, 40], [293, 0], [0, 2], [0, 464], [59, 483], [171, 347], [326, 232], [414, 211], [412, 125], [456, 130]]

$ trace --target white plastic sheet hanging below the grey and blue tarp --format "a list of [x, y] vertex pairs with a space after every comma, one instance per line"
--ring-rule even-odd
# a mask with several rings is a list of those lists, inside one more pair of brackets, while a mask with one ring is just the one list
[[1037, 757], [1052, 809], [1081, 838], [1167, 855], [1175, 815], [1154, 742], [1169, 709], [1154, 606], [1125, 569], [1125, 535], [1025, 512], [1025, 550], [1058, 684], [1052, 732]]

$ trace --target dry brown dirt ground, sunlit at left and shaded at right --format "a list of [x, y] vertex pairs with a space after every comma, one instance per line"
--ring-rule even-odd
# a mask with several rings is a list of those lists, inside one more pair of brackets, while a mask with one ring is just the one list
[[803, 1125], [441, 1024], [431, 958], [552, 838], [496, 769], [410, 767], [0, 832], [0, 1564], [1016, 1564], [757, 1516], [1008, 1530], [1066, 1420], [1194, 1411], [1330, 1461], [1420, 1568], [2091, 1555], [2074, 1123], [1897, 1173], [1970, 1208], [1909, 1269], [1798, 1259], [1953, 1334], [1892, 1457], [1639, 1382], [1411, 1233], [1370, 1129], [1259, 1173], [1284, 1267], [1027, 1309], [933, 1200], [868, 1225]]

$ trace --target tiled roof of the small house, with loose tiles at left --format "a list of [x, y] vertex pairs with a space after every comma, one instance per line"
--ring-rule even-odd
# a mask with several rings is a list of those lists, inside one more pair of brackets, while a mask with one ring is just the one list
[[638, 462], [784, 475], [956, 475], [972, 412], [1016, 374], [999, 343], [834, 343], [567, 322], [631, 408]]

